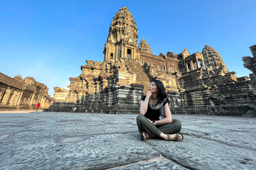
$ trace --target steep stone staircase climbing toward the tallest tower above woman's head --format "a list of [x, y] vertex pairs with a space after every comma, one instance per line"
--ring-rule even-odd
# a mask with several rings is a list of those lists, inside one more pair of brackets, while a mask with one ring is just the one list
[[125, 58], [124, 60], [130, 73], [137, 74], [135, 83], [142, 84], [144, 86], [142, 92], [144, 95], [146, 95], [148, 88], [150, 86], [150, 81], [149, 78], [147, 77], [147, 74], [143, 71], [142, 65], [138, 61], [135, 61], [133, 58]]

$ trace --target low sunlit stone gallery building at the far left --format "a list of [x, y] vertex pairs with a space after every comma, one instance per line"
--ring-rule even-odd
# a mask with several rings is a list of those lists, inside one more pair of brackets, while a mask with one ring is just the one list
[[19, 74], [10, 78], [0, 73], [0, 110], [36, 109], [39, 101], [42, 108], [48, 108], [54, 101], [48, 90], [34, 78], [22, 79]]

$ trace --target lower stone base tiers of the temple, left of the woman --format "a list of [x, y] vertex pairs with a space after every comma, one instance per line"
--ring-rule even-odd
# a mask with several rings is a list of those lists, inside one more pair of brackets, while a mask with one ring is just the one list
[[[143, 86], [110, 86], [94, 95], [81, 96], [76, 103], [57, 102], [47, 111], [109, 114], [139, 114]], [[46, 112], [47, 112], [46, 111]]]

